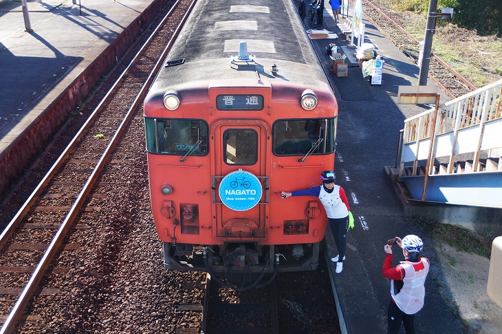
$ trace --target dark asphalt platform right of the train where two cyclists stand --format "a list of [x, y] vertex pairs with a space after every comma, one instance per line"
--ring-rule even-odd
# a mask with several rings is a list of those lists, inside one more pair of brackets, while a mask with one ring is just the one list
[[[390, 282], [382, 276], [384, 245], [389, 238], [406, 234], [422, 236], [424, 256], [432, 263], [426, 280], [426, 304], [415, 316], [415, 330], [463, 333], [462, 320], [450, 311], [455, 309], [455, 301], [446, 302], [450, 296], [441, 266], [435, 262], [435, 241], [426, 236], [421, 226], [408, 223], [406, 210], [390, 186], [390, 175], [382, 172], [384, 166], [395, 165], [397, 138], [404, 119], [425, 110], [424, 106], [397, 104], [398, 86], [417, 85], [419, 68], [369, 21], [363, 18], [363, 23], [367, 36], [364, 43], [373, 43], [385, 60], [382, 85], [371, 85], [369, 77], [363, 78], [356, 60], [349, 64], [347, 77], [334, 74], [325, 47], [336, 43], [346, 56], [353, 56], [355, 49], [349, 47], [350, 41], [314, 41], [339, 104], [336, 183], [349, 197], [356, 225], [347, 233], [347, 259], [340, 274], [335, 273], [336, 263], [330, 260], [338, 254], [333, 235], [328, 232], [325, 236], [325, 257], [334, 280], [342, 333], [386, 333]], [[333, 16], [325, 16], [318, 29], [323, 28], [340, 32]], [[441, 103], [449, 100], [444, 92], [440, 93]], [[404, 258], [397, 246], [393, 252], [393, 265], [397, 265]], [[403, 327], [400, 333], [404, 333]]]

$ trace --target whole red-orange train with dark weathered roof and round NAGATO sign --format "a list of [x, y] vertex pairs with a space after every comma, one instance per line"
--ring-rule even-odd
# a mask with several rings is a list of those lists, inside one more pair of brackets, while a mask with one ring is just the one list
[[199, 2], [144, 102], [168, 269], [317, 267], [323, 205], [281, 191], [334, 169], [338, 104], [294, 5], [256, 3]]

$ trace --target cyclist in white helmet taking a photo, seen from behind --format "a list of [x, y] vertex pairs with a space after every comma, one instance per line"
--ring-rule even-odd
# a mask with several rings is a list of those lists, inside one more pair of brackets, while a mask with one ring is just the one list
[[395, 243], [402, 248], [404, 261], [392, 266], [392, 246], [384, 246], [385, 260], [382, 275], [391, 280], [391, 301], [387, 310], [387, 333], [397, 333], [401, 322], [407, 334], [415, 333], [415, 314], [424, 307], [424, 283], [429, 271], [429, 260], [422, 257], [424, 243], [414, 234], [404, 238], [395, 237]]

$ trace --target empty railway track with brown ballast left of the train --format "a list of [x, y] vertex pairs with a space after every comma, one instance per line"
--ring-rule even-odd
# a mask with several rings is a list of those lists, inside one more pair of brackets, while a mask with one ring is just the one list
[[[128, 126], [141, 126], [142, 98], [171, 47], [170, 41], [177, 36], [194, 4], [195, 1], [179, 0], [164, 9], [165, 15], [159, 16], [150, 25], [151, 31], [143, 34], [143, 42], [136, 43], [122, 60], [121, 64], [127, 64], [120, 65], [124, 69], [116, 68], [87, 106], [80, 109], [80, 113], [84, 109], [94, 110], [85, 116], [84, 124], [77, 126], [79, 130], [61, 155], [51, 157], [50, 151], [58, 151], [56, 140], [39, 159], [41, 164], [55, 160], [45, 176], [41, 177], [41, 170], [33, 168], [25, 175], [25, 182], [19, 183], [3, 202], [5, 209], [9, 205], [16, 207], [16, 203], [25, 199], [0, 235], [0, 294], [7, 296], [1, 300], [0, 333], [12, 333], [20, 320], [41, 320], [42, 315], [33, 310], [23, 316], [30, 300], [34, 295], [58, 293], [58, 285], [65, 284], [58, 276], [67, 278], [74, 269], [65, 265], [70, 262], [65, 258], [83, 252], [82, 245], [65, 241], [68, 232], [78, 234], [78, 231], [99, 229], [97, 224], [81, 222], [86, 219], [95, 222], [93, 213], [96, 212], [106, 214], [101, 212], [100, 205], [109, 200], [107, 192], [120, 186], [107, 181], [107, 176], [120, 174], [127, 164], [124, 159], [109, 158], [113, 152], [127, 150], [131, 145], [122, 135]], [[66, 127], [70, 126], [68, 123], [63, 127], [58, 140], [63, 140]], [[30, 181], [40, 177], [42, 181], [34, 190], [26, 192], [32, 184]], [[56, 254], [59, 259], [55, 261]], [[39, 287], [44, 279], [45, 285], [50, 281], [55, 287]], [[30, 308], [36, 307], [32, 304]]]

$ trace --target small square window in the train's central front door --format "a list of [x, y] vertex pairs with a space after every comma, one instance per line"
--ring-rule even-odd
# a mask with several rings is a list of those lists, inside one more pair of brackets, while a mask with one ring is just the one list
[[250, 129], [223, 132], [223, 153], [229, 165], [254, 165], [258, 161], [258, 133]]

